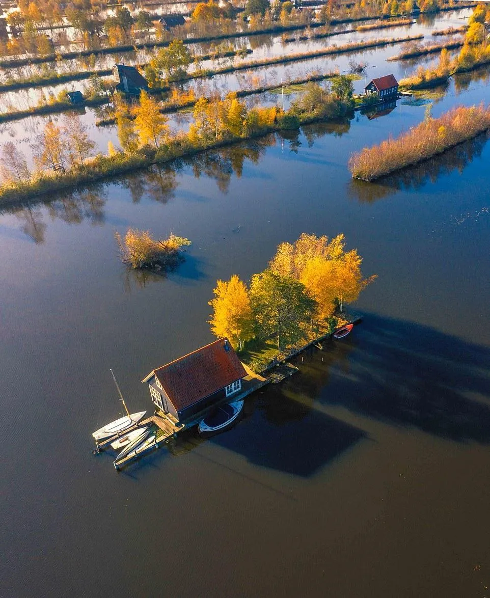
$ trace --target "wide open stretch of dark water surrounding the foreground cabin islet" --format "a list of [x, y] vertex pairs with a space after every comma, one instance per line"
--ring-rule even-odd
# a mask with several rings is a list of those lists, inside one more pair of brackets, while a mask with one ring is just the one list
[[[353, 184], [352, 151], [423, 116], [402, 108], [3, 213], [2, 596], [488, 596], [490, 144]], [[187, 260], [127, 273], [128, 225], [189, 237]], [[139, 381], [212, 340], [215, 281], [303, 231], [379, 275], [363, 324], [226, 434], [120, 474], [93, 456], [109, 368], [151, 410]]]

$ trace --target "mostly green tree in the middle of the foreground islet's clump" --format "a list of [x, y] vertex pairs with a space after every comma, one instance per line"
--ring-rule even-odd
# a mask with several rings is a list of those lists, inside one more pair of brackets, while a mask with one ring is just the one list
[[252, 277], [249, 295], [257, 335], [277, 334], [279, 353], [308, 337], [316, 301], [299, 280], [265, 270]]

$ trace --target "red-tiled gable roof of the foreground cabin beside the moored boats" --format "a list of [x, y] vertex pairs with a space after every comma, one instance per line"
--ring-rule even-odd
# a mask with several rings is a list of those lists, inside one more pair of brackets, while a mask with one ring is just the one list
[[[220, 338], [153, 370], [177, 411], [246, 376], [227, 338]], [[151, 376], [151, 374], [150, 374]], [[146, 382], [149, 376], [143, 382]]]

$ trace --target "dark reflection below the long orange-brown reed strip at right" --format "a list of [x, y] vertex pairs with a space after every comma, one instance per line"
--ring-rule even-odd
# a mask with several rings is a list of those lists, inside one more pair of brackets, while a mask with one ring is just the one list
[[449, 175], [453, 170], [458, 170], [461, 174], [473, 158], [482, 154], [487, 139], [487, 134], [483, 133], [448, 149], [443, 154], [385, 176], [379, 181], [368, 183], [352, 179], [348, 185], [348, 195], [359, 202], [373, 203], [402, 189], [419, 189], [427, 182], [434, 183], [439, 176]]

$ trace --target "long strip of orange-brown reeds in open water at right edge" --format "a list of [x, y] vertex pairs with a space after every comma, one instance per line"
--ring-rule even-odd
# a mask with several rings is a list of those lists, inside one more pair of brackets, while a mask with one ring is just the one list
[[428, 118], [396, 139], [364, 148], [349, 160], [352, 176], [373, 181], [396, 170], [442, 154], [490, 129], [490, 108], [458, 106], [439, 118]]

